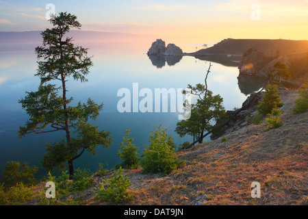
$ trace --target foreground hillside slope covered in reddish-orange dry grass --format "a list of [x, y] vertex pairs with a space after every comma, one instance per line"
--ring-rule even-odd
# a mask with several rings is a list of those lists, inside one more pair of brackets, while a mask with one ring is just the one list
[[[266, 124], [248, 123], [229, 130], [225, 141], [218, 138], [179, 152], [184, 166], [166, 177], [125, 170], [135, 198], [121, 205], [307, 205], [308, 112], [292, 114], [296, 90], [279, 94], [285, 104], [282, 127], [266, 130]], [[81, 205], [113, 205], [94, 200], [95, 188], [111, 176], [112, 171], [93, 177], [91, 188], [69, 198]], [[251, 198], [253, 181], [261, 184], [261, 198]]]

